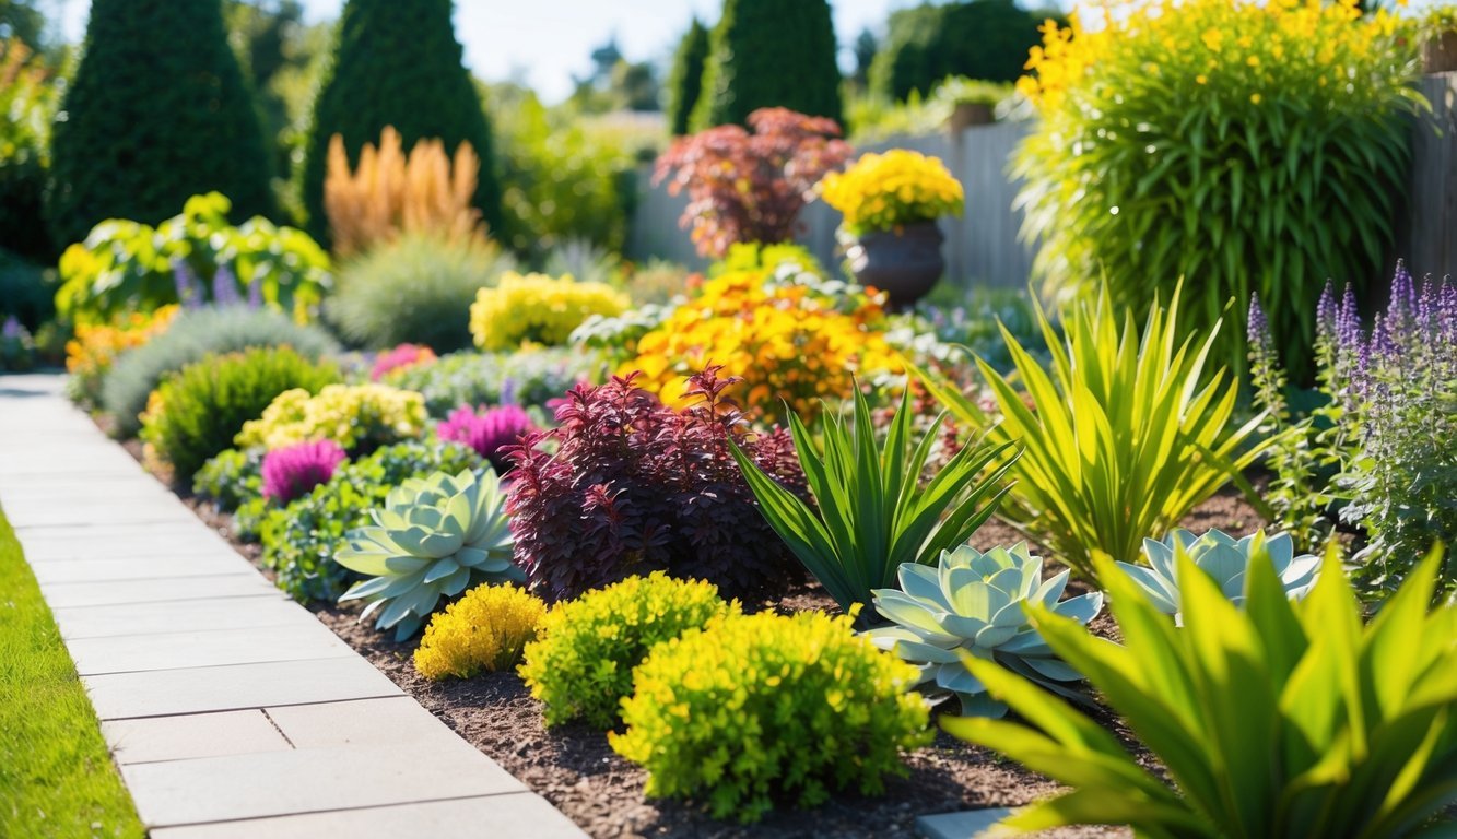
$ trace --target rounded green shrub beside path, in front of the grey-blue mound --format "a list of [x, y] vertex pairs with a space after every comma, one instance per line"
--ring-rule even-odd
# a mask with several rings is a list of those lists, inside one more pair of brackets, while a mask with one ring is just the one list
[[205, 355], [152, 392], [141, 415], [149, 454], [172, 468], [182, 485], [214, 454], [229, 449], [243, 422], [290, 389], [316, 392], [339, 379], [332, 364], [315, 364], [288, 347], [255, 347]]

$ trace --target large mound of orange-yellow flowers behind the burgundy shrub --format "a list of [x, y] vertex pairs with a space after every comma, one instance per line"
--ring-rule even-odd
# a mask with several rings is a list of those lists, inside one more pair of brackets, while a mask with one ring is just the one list
[[721, 364], [743, 379], [728, 395], [752, 417], [784, 422], [788, 402], [810, 421], [822, 399], [849, 393], [855, 376], [900, 370], [884, 328], [876, 297], [836, 297], [766, 271], [736, 271], [710, 280], [640, 338], [637, 358], [619, 374], [641, 370], [640, 387], [685, 405], [688, 377]]

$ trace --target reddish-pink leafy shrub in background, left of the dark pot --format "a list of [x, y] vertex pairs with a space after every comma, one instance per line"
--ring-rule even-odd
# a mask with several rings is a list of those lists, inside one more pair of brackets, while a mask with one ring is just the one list
[[749, 114], [750, 131], [720, 125], [680, 137], [657, 159], [653, 185], [688, 189], [679, 227], [694, 229], [704, 256], [739, 242], [788, 242], [814, 185], [849, 159], [839, 124], [788, 108]]

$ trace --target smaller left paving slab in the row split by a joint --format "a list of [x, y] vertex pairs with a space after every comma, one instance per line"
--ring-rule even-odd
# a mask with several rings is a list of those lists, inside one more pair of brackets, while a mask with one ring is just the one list
[[293, 749], [268, 715], [258, 709], [108, 720], [101, 733], [117, 763], [153, 763]]

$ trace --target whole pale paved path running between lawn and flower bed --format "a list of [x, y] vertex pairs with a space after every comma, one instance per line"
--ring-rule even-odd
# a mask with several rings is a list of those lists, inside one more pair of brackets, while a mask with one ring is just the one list
[[61, 395], [0, 376], [0, 507], [156, 839], [583, 836]]

